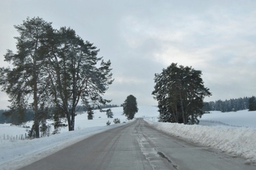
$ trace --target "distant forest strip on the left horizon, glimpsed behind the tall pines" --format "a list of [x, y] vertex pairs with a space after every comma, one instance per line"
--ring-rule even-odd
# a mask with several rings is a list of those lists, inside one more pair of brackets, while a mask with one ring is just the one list
[[[119, 107], [118, 105], [105, 105], [105, 106], [100, 106], [101, 109], [104, 108], [115, 108]], [[92, 110], [97, 110], [99, 109], [98, 107], [92, 107]], [[46, 113], [46, 118], [48, 119], [53, 119], [53, 108], [48, 108], [47, 113]], [[86, 112], [87, 109], [85, 106], [77, 106], [76, 113], [79, 112]], [[20, 118], [19, 114], [9, 114], [9, 110], [0, 110], [0, 124], [3, 123], [12, 123], [14, 125], [18, 125], [21, 123], [25, 123], [28, 121], [33, 120], [34, 118], [34, 112], [32, 109], [26, 109], [25, 116], [23, 118]]]

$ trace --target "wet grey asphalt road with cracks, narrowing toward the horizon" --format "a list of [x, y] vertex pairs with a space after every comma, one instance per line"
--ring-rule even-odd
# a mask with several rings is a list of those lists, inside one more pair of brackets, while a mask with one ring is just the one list
[[245, 159], [155, 130], [143, 119], [75, 143], [22, 169], [256, 169]]

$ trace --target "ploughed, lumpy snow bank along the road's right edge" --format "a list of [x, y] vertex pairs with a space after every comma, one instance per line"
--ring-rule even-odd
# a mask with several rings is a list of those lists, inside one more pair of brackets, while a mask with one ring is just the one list
[[256, 163], [256, 129], [234, 128], [228, 126], [183, 125], [178, 123], [149, 124], [162, 132], [185, 140], [196, 142], [223, 152], [242, 156], [247, 163]]

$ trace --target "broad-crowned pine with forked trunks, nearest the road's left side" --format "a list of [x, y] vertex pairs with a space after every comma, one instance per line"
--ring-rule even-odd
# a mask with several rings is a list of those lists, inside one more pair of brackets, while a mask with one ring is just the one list
[[[102, 96], [113, 81], [111, 62], [97, 57], [97, 47], [82, 40], [71, 28], [55, 30], [44, 47], [51, 101], [65, 113], [68, 130], [74, 130], [80, 101], [84, 106], [110, 102]], [[87, 108], [87, 113], [88, 119], [92, 119], [93, 111]]]

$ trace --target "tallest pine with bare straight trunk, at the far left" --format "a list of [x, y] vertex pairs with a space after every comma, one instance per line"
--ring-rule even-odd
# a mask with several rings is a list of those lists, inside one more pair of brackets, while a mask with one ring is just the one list
[[[53, 31], [51, 23], [42, 18], [27, 18], [21, 25], [14, 26], [19, 33], [16, 48], [17, 52], [7, 50], [5, 61], [12, 64], [11, 68], [1, 68], [0, 84], [9, 95], [11, 113], [22, 113], [28, 106], [34, 111], [35, 136], [39, 137], [40, 115], [38, 106], [47, 99], [44, 95], [46, 77], [42, 68], [45, 56], [42, 55], [42, 45], [46, 35]], [[33, 96], [33, 102], [31, 97]]]

